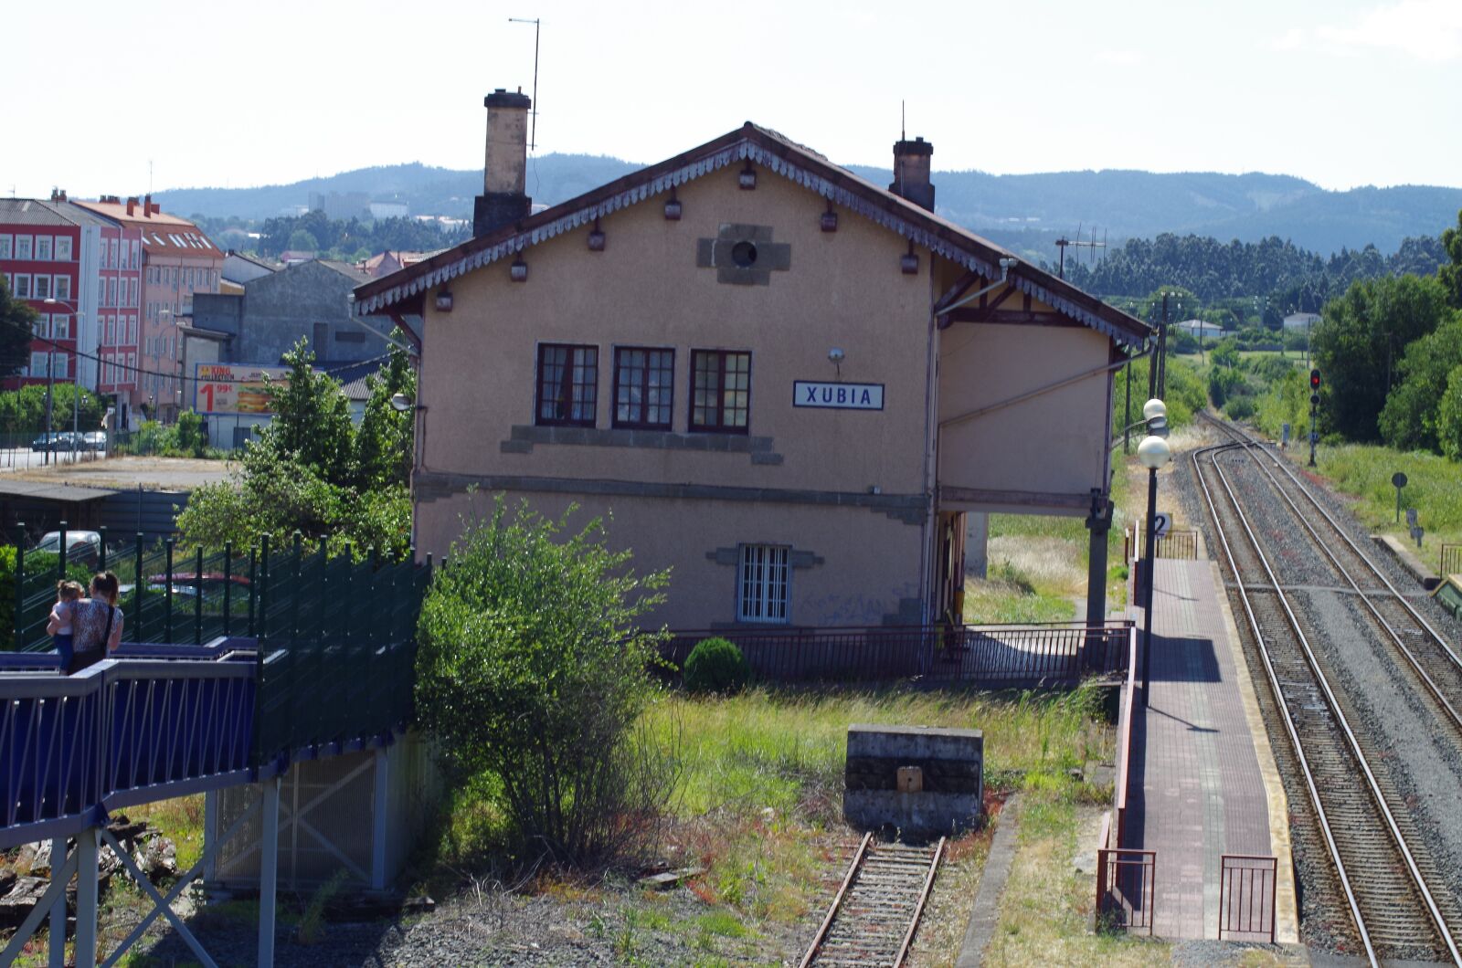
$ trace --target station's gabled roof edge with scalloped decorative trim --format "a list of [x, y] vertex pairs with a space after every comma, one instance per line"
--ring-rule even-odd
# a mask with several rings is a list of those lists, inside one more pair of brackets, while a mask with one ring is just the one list
[[[1009, 250], [887, 189], [864, 181], [817, 152], [747, 121], [743, 127], [699, 148], [633, 171], [576, 199], [373, 279], [355, 290], [355, 311], [361, 316], [390, 311], [392, 307], [396, 307], [396, 311], [420, 311], [415, 304], [421, 294], [442, 282], [491, 262], [510, 259], [529, 246], [589, 224], [595, 218], [743, 161], [769, 168], [988, 279], [997, 278], [1000, 259], [1013, 257]], [[1151, 332], [1148, 325], [1135, 316], [1107, 306], [1023, 260], [1010, 269], [1009, 281], [1019, 291], [1118, 342], [1137, 344]]]

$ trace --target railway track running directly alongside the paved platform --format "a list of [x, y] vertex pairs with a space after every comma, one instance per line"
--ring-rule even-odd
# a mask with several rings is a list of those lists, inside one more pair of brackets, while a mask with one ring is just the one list
[[[1434, 889], [1442, 885], [1436, 866], [1411, 847], [1420, 838], [1404, 797], [1387, 771], [1373, 769], [1371, 737], [1352, 730], [1348, 703], [1325, 674], [1306, 623], [1244, 513], [1231, 481], [1232, 465], [1235, 459], [1260, 459], [1251, 453], [1256, 447], [1251, 440], [1227, 430], [1235, 436], [1234, 443], [1193, 453], [1196, 480], [1289, 736], [1355, 936], [1373, 965], [1382, 958], [1417, 958], [1424, 950], [1462, 965], [1452, 936], [1453, 927], [1462, 924], [1462, 911], [1447, 891]], [[1275, 481], [1275, 487], [1282, 485]], [[1292, 500], [1289, 506], [1298, 515]], [[1339, 529], [1333, 519], [1330, 523]], [[1358, 548], [1351, 545], [1351, 550], [1364, 559]], [[1385, 576], [1380, 579], [1385, 582]], [[1355, 591], [1366, 598], [1358, 585]]]

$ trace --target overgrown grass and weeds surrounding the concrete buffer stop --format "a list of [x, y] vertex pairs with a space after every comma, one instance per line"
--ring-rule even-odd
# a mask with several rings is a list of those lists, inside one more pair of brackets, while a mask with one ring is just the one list
[[[1105, 801], [1070, 771], [1110, 760], [1111, 728], [1096, 721], [1091, 690], [1066, 695], [931, 693], [904, 689], [765, 690], [734, 697], [667, 693], [645, 724], [662, 738], [678, 731], [683, 774], [662, 838], [674, 864], [706, 867], [690, 883], [705, 905], [613, 882], [539, 889], [575, 907], [592, 930], [621, 939], [670, 933], [699, 964], [781, 962], [791, 956], [842, 877], [857, 835], [841, 822], [842, 769], [851, 722], [984, 730], [991, 803], [1022, 791], [1037, 816]], [[481, 801], [459, 797], [436, 874], [450, 880], [491, 854], [500, 832]], [[978, 883], [988, 832], [953, 845], [933, 904], [947, 924], [920, 939], [921, 964], [952, 964]], [[440, 888], [450, 889], [443, 883]], [[1089, 905], [1089, 902], [1088, 902]], [[958, 924], [956, 924], [958, 921]], [[791, 946], [791, 948], [789, 948]], [[618, 950], [632, 962], [633, 942]]]

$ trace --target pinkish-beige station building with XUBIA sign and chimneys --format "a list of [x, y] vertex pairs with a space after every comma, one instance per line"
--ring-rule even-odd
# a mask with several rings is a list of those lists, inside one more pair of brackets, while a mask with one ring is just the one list
[[418, 554], [500, 493], [613, 516], [673, 629], [925, 624], [1015, 512], [1086, 518], [1102, 586], [1149, 329], [940, 218], [930, 142], [880, 187], [749, 121], [534, 212], [529, 101], [485, 104], [474, 238], [355, 288], [423, 320]]

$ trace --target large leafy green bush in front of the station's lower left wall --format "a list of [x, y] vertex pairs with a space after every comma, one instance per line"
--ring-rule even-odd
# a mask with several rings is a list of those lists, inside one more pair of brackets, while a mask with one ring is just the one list
[[563, 864], [614, 860], [678, 778], [637, 727], [662, 632], [640, 630], [668, 573], [636, 576], [598, 519], [577, 534], [499, 496], [468, 515], [421, 607], [417, 711], [452, 784], [478, 784], [518, 847]]

